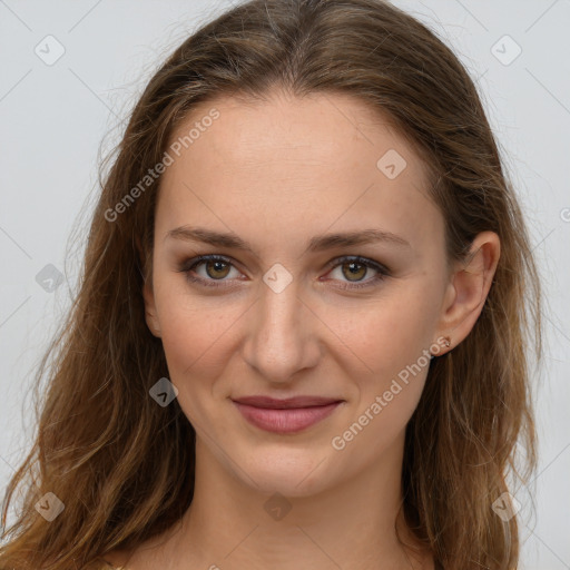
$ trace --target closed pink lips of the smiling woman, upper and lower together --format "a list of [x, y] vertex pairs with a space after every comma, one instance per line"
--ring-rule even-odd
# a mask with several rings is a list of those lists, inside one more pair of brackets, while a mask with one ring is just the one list
[[275, 400], [247, 396], [233, 400], [242, 415], [253, 425], [273, 433], [297, 433], [331, 415], [342, 400], [321, 396], [295, 396]]

